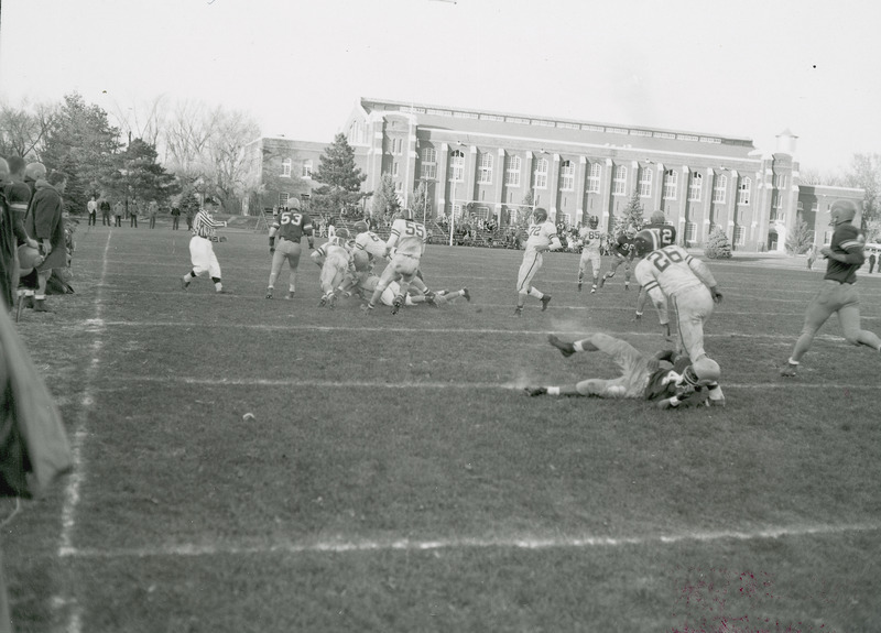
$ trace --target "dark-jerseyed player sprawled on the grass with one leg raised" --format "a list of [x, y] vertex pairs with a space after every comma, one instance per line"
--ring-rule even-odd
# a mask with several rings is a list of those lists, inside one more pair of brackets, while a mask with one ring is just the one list
[[653, 357], [646, 357], [629, 342], [605, 334], [594, 334], [575, 342], [550, 335], [547, 342], [564, 357], [581, 351], [605, 352], [616, 362], [621, 375], [611, 380], [591, 378], [563, 386], [525, 388], [525, 392], [532, 396], [629, 397], [654, 402], [659, 408], [687, 408], [708, 404], [708, 390], [718, 388], [713, 380], [699, 380], [690, 359], [673, 350], [662, 350]]

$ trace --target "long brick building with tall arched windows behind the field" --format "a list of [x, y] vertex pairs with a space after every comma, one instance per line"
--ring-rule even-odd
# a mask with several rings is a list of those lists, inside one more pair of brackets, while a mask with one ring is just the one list
[[[607, 230], [634, 190], [648, 212], [663, 210], [686, 245], [700, 245], [721, 227], [735, 248], [784, 250], [798, 215], [827, 232], [837, 198], [861, 204], [863, 192], [798, 182], [794, 137], [777, 137], [774, 152], [746, 138], [616, 125], [360, 99], [344, 131], [367, 174], [366, 192], [390, 173], [403, 205], [427, 188], [422, 214], [523, 221], [531, 206], [557, 221], [580, 223], [595, 215]], [[263, 138], [249, 146], [263, 204], [308, 195], [309, 170], [326, 144]], [[524, 205], [532, 195], [532, 205]]]

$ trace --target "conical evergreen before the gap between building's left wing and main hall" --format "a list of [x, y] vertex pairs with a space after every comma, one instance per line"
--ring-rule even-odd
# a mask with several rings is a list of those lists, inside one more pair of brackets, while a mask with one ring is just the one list
[[322, 186], [312, 194], [312, 209], [324, 216], [335, 216], [345, 208], [357, 207], [368, 194], [361, 192], [367, 174], [355, 164], [355, 151], [342, 133], [325, 149], [312, 178]]

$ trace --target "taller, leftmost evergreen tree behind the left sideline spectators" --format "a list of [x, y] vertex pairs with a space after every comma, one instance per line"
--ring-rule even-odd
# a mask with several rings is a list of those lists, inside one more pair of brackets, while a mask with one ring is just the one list
[[67, 174], [64, 203], [67, 210], [85, 212], [86, 203], [99, 195], [102, 183], [119, 168], [119, 130], [110, 125], [98, 106], [87, 106], [74, 92], [48, 123], [41, 154], [46, 168]]

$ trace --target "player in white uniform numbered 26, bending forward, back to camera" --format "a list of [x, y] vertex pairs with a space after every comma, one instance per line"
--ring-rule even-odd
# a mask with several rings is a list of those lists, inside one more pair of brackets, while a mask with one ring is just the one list
[[659, 312], [667, 298], [676, 310], [679, 346], [692, 359], [683, 379], [693, 386], [709, 389], [709, 403], [725, 406], [725, 395], [717, 382], [719, 364], [704, 350], [704, 321], [713, 314], [722, 295], [716, 279], [701, 262], [675, 244], [661, 248], [655, 230], [637, 233], [634, 249], [644, 259], [637, 265], [637, 283], [645, 288]]

